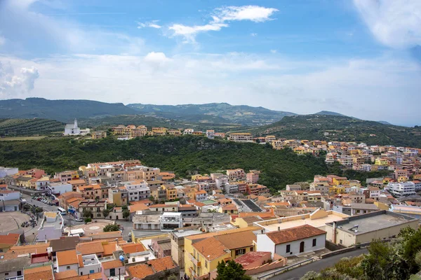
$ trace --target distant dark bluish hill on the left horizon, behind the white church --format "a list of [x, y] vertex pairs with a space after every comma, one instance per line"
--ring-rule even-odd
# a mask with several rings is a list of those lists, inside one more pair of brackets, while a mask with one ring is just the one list
[[48, 100], [44, 98], [0, 100], [0, 118], [47, 118], [62, 122], [74, 118], [136, 114], [121, 103], [91, 100]]

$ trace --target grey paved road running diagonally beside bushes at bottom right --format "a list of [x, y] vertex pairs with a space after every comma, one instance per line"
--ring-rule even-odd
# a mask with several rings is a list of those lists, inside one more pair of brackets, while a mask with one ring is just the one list
[[367, 252], [368, 252], [368, 250], [366, 248], [362, 248], [362, 249], [359, 249], [359, 250], [356, 250], [356, 251], [351, 251], [349, 253], [334, 255], [333, 257], [324, 258], [324, 259], [321, 259], [321, 260], [317, 260], [315, 262], [311, 262], [308, 265], [303, 265], [302, 267], [292, 269], [288, 272], [276, 275], [276, 276], [274, 276], [272, 278], [269, 278], [269, 279], [270, 280], [298, 280], [309, 271], [319, 272], [321, 269], [331, 267], [333, 264], [335, 264], [335, 262], [338, 262], [341, 258], [355, 257], [357, 255], [361, 255], [361, 254], [367, 253]]

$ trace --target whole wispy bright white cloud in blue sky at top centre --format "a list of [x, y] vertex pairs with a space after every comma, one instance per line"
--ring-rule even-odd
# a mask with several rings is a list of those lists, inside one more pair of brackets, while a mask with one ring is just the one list
[[[265, 8], [260, 6], [228, 6], [216, 8], [211, 14], [211, 20], [207, 25], [181, 25], [173, 24], [168, 29], [173, 31], [175, 36], [185, 37], [185, 43], [195, 43], [195, 36], [199, 32], [220, 31], [222, 27], [228, 27], [227, 22], [236, 20], [250, 20], [252, 22], [265, 22], [271, 20], [270, 16], [278, 11], [276, 8]], [[251, 36], [258, 34], [252, 33]]]

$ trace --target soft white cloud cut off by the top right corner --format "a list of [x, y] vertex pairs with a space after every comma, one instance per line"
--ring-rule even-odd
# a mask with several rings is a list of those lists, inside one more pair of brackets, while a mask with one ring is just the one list
[[354, 0], [377, 41], [390, 48], [421, 45], [420, 0]]

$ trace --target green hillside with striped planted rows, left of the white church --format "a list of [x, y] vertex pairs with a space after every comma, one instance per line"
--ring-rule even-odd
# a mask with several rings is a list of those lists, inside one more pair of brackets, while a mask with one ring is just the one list
[[65, 124], [57, 120], [36, 119], [0, 119], [0, 136], [45, 135], [51, 132], [64, 132]]

